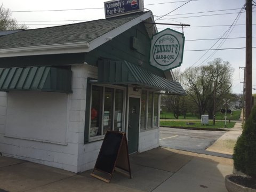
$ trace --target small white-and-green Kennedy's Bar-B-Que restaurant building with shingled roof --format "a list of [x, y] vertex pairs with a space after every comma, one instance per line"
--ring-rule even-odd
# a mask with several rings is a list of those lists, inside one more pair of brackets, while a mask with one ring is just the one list
[[171, 71], [185, 37], [118, 2], [106, 19], [0, 33], [3, 156], [79, 173], [108, 130], [126, 133], [129, 154], [159, 146], [161, 94], [186, 94]]

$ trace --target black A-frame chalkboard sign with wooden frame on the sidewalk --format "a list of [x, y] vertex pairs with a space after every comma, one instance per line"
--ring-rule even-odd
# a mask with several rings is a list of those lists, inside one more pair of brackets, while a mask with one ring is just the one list
[[114, 171], [132, 178], [126, 134], [107, 131], [91, 175], [109, 183]]

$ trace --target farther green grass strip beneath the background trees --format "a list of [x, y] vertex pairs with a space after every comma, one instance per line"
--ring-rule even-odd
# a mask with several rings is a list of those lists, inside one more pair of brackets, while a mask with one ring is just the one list
[[[241, 115], [241, 110], [234, 110], [232, 115], [227, 114], [227, 120], [238, 120]], [[172, 112], [162, 111], [160, 119], [175, 119]], [[184, 119], [183, 115], [179, 116], [179, 119]], [[198, 119], [198, 115], [187, 114], [186, 119]], [[225, 114], [221, 114], [219, 111], [215, 115], [216, 120], [225, 120]]]

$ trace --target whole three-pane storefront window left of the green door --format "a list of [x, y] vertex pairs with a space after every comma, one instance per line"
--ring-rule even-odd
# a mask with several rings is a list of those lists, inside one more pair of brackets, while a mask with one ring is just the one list
[[92, 85], [91, 138], [104, 135], [108, 130], [123, 131], [123, 98], [124, 90]]

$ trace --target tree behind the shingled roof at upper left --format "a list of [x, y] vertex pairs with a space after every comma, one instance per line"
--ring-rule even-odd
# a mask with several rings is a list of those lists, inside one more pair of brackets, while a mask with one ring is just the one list
[[0, 6], [0, 30], [15, 30], [15, 29], [27, 29], [26, 25], [19, 25], [19, 23], [11, 18], [10, 9], [6, 9], [3, 5]]

